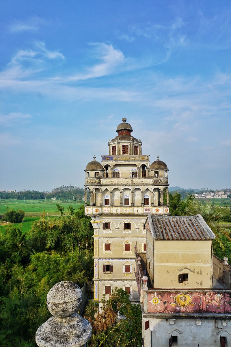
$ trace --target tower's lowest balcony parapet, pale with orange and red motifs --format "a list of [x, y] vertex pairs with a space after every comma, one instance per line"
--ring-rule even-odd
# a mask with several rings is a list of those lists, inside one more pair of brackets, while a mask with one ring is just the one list
[[169, 214], [169, 207], [166, 206], [85, 206], [85, 214]]

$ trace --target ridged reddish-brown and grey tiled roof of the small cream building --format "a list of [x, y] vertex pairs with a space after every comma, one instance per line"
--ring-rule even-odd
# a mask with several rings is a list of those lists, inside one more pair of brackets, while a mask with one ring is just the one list
[[195, 216], [149, 214], [145, 228], [156, 240], [213, 240], [216, 237], [200, 214]]

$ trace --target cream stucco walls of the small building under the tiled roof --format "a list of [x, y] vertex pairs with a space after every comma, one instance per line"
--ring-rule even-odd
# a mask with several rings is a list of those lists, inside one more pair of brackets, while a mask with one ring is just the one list
[[[212, 288], [211, 240], [153, 240], [146, 235], [147, 270], [154, 288]], [[179, 283], [178, 275], [188, 273]]]

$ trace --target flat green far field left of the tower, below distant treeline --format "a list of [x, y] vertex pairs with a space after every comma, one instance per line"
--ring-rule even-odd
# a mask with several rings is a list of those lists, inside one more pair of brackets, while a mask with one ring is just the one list
[[57, 211], [56, 204], [62, 205], [65, 209], [71, 205], [75, 210], [77, 210], [82, 204], [75, 202], [62, 202], [59, 200], [50, 201], [50, 200], [12, 200], [5, 199], [0, 201], [0, 214], [4, 214], [7, 210], [7, 207], [13, 210], [24, 210], [26, 215], [38, 215], [45, 210], [45, 215], [60, 215], [60, 212]]

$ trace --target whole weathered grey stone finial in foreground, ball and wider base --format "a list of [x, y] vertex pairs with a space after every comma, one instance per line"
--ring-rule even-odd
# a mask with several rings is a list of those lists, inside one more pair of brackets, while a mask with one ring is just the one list
[[56, 283], [47, 294], [47, 307], [53, 315], [36, 331], [39, 347], [82, 347], [91, 337], [91, 324], [77, 314], [82, 291], [76, 283]]

